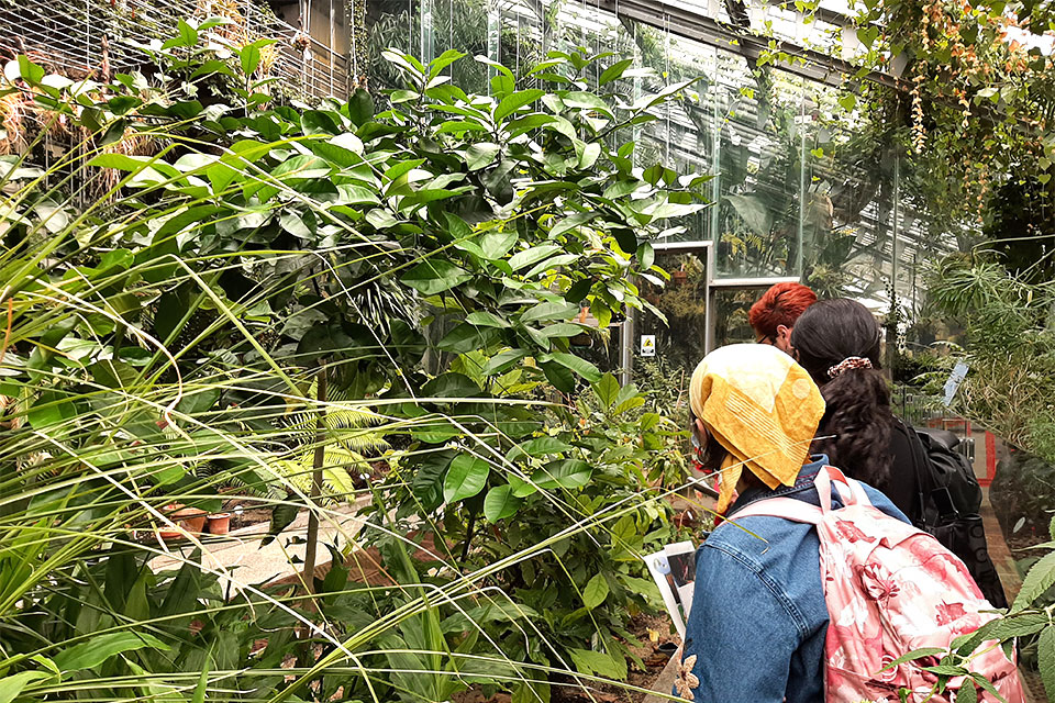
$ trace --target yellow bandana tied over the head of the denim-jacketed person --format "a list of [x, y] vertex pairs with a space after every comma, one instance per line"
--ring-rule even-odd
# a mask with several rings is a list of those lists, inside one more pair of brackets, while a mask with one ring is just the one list
[[729, 451], [718, 512], [724, 513], [746, 466], [770, 489], [791, 486], [810, 455], [824, 414], [821, 391], [801, 366], [776, 347], [735, 344], [696, 367], [692, 414]]

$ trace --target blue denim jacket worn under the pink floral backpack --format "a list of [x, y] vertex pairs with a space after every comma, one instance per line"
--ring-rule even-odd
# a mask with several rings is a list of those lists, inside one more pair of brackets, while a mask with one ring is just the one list
[[[828, 457], [811, 459], [795, 486], [744, 491], [730, 516], [774, 495], [818, 505], [813, 479]], [[876, 507], [908, 522], [882, 493], [865, 490]], [[833, 505], [841, 505], [834, 492]], [[822, 703], [828, 609], [817, 533], [781, 517], [745, 517], [738, 524], [743, 529], [719, 525], [697, 551], [674, 693], [695, 703]]]

